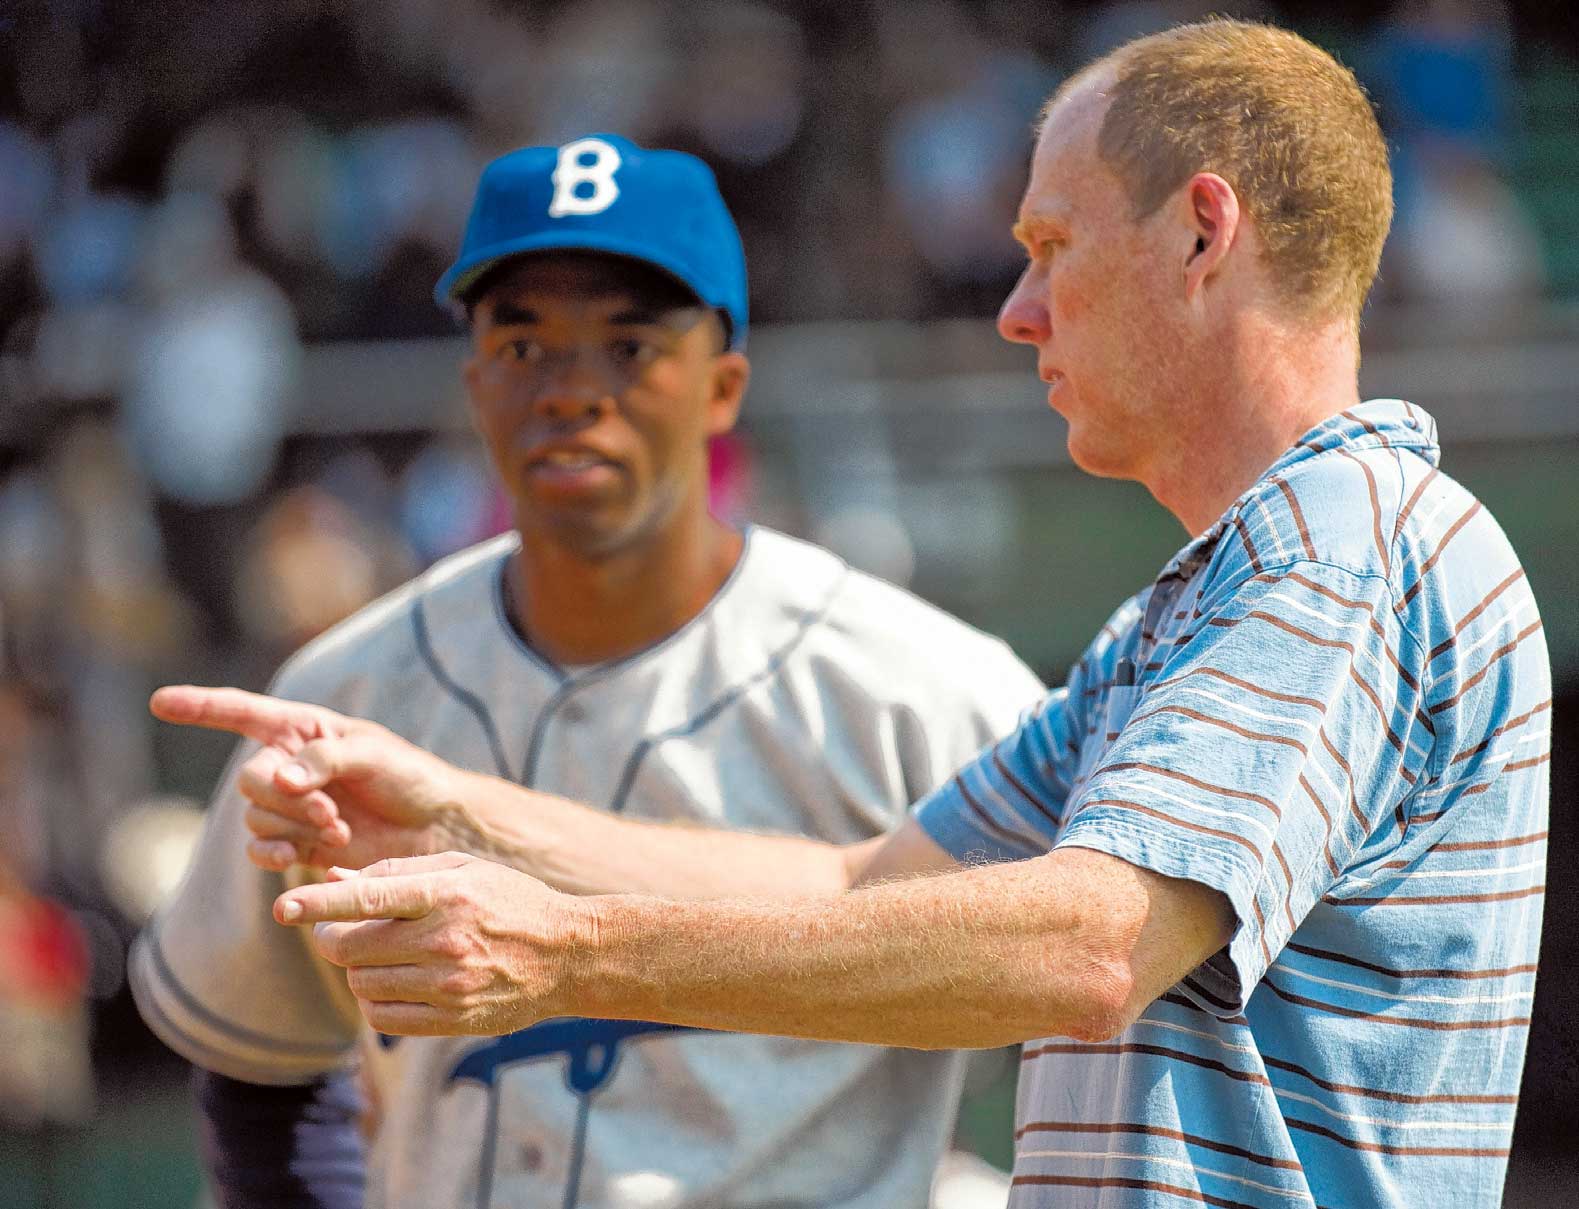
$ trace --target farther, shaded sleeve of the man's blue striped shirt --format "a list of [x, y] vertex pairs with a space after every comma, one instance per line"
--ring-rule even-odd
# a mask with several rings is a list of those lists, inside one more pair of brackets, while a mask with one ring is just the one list
[[1086, 687], [1113, 633], [1104, 628], [1063, 688], [916, 807], [921, 827], [955, 860], [1022, 860], [1053, 844], [1085, 732]]

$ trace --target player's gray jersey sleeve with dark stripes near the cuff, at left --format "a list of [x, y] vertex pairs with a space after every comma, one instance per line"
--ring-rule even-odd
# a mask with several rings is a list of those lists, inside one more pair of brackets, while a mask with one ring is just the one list
[[[306, 699], [300, 688], [281, 672], [270, 691]], [[148, 1027], [191, 1062], [246, 1083], [306, 1083], [352, 1054], [362, 1021], [309, 930], [275, 923], [286, 878], [246, 859], [235, 778], [256, 750], [237, 748], [186, 878], [133, 945], [131, 988]]]

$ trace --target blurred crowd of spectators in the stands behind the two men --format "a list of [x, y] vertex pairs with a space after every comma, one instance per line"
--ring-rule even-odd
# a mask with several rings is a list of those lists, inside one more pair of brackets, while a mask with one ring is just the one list
[[[148, 690], [261, 685], [507, 524], [453, 434], [298, 434], [306, 346], [455, 330], [429, 290], [486, 159], [598, 129], [701, 155], [756, 322], [987, 316], [1041, 99], [1222, 9], [1304, 28], [1377, 98], [1382, 305], [1557, 289], [1510, 183], [1522, 47], [1484, 0], [0, 6], [0, 1111], [88, 1111], [79, 1059], [41, 1080], [6, 1039], [82, 1039], [84, 996], [120, 993], [216, 772]], [[720, 450], [734, 511], [742, 464]]]

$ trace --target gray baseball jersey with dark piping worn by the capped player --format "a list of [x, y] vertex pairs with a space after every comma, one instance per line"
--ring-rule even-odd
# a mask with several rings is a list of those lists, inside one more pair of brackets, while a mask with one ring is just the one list
[[[632, 818], [840, 843], [895, 827], [1042, 694], [998, 639], [759, 527], [688, 625], [567, 674], [505, 617], [515, 548], [439, 563], [273, 691]], [[246, 862], [234, 767], [134, 949], [137, 1002], [177, 1051], [254, 1083], [317, 1076], [360, 1037], [382, 1108], [369, 1206], [925, 1204], [958, 1054], [589, 1020], [366, 1037], [341, 972], [270, 919], [281, 878]]]

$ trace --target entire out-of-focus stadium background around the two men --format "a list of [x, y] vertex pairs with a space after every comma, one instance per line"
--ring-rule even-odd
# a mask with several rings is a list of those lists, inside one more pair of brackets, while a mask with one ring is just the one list
[[[505, 522], [429, 301], [480, 166], [617, 131], [704, 156], [755, 385], [725, 515], [821, 540], [1056, 680], [1184, 535], [1069, 466], [990, 316], [1041, 99], [1206, 11], [1377, 99], [1397, 223], [1364, 387], [1432, 410], [1558, 683], [1551, 879], [1510, 1206], [1579, 1174], [1579, 30], [1486, 0], [0, 0], [0, 1204], [186, 1206], [185, 1072], [125, 949], [227, 745], [171, 680], [295, 646]], [[1011, 1064], [1012, 1065], [1012, 1064]], [[1009, 1154], [1007, 1083], [962, 1141]]]

